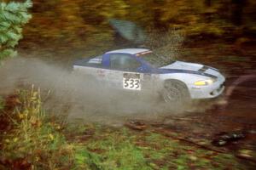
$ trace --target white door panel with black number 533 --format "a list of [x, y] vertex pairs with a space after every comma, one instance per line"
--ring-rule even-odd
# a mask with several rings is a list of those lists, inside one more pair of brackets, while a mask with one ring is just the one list
[[124, 73], [123, 88], [129, 90], [141, 90], [140, 74]]

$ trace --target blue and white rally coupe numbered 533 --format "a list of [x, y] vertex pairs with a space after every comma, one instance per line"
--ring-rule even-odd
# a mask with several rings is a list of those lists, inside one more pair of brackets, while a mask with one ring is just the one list
[[75, 61], [73, 70], [102, 85], [131, 92], [156, 92], [166, 101], [215, 98], [224, 91], [224, 76], [207, 65], [165, 58], [144, 48], [125, 48]]

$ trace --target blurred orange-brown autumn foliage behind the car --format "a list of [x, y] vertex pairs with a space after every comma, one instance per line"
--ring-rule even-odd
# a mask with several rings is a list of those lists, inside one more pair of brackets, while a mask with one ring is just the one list
[[[34, 0], [23, 42], [72, 47], [112, 42], [110, 19], [131, 20], [144, 30], [182, 31], [185, 37], [236, 41], [255, 33], [253, 0]], [[255, 35], [254, 35], [255, 36]]]

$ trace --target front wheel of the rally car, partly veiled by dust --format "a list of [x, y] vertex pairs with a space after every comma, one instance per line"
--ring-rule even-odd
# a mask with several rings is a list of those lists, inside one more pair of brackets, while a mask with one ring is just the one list
[[166, 103], [170, 104], [186, 104], [190, 100], [189, 90], [187, 86], [177, 80], [167, 80], [162, 90], [162, 97]]

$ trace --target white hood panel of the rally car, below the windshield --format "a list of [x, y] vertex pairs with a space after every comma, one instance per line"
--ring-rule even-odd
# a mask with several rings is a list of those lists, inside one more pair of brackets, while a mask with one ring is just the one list
[[178, 69], [178, 70], [186, 70], [186, 71], [199, 71], [203, 65], [195, 64], [195, 63], [187, 63], [183, 61], [175, 61], [171, 65], [166, 65], [161, 67], [161, 69]]

